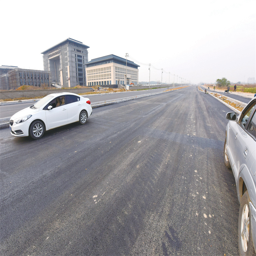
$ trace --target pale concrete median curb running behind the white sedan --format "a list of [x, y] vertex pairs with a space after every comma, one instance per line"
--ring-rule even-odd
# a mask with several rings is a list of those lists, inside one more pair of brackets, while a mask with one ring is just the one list
[[[180, 88], [180, 89], [176, 89], [176, 90], [181, 90], [181, 89], [184, 89], [184, 88]], [[175, 90], [172, 90], [172, 91], [175, 91]], [[140, 98], [144, 98], [144, 97], [150, 97], [150, 96], [154, 96], [154, 95], [158, 95], [158, 94], [162, 94], [162, 93], [167, 93], [167, 92], [168, 91], [161, 91], [159, 93], [144, 94], [144, 95], [140, 95], [140, 96], [133, 96], [133, 97], [116, 99], [116, 100], [99, 101], [99, 102], [91, 103], [91, 107], [93, 109], [95, 109], [95, 108], [99, 108], [101, 106], [117, 104], [117, 103], [129, 101], [129, 100], [135, 100], [135, 99], [140, 99]], [[38, 99], [38, 100], [40, 100], [40, 99]], [[34, 101], [35, 100], [32, 100], [31, 102], [34, 102]], [[11, 118], [11, 116], [10, 117], [5, 117], [5, 118], [0, 118], [0, 129], [9, 127], [10, 118]]]

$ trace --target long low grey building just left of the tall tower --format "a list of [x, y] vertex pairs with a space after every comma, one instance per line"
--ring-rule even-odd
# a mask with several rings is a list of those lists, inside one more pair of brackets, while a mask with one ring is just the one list
[[15, 68], [8, 72], [8, 79], [9, 90], [17, 89], [22, 85], [50, 86], [48, 71]]

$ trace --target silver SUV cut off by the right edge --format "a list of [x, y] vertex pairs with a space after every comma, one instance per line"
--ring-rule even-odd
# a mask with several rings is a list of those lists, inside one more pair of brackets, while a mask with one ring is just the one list
[[237, 117], [229, 112], [226, 127], [224, 162], [236, 180], [240, 202], [238, 240], [240, 255], [256, 250], [256, 97]]

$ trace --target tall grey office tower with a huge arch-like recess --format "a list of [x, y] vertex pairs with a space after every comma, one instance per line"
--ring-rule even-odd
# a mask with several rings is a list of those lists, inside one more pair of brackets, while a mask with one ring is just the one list
[[89, 46], [68, 38], [42, 52], [44, 70], [51, 73], [51, 82], [61, 87], [85, 86], [84, 64]]

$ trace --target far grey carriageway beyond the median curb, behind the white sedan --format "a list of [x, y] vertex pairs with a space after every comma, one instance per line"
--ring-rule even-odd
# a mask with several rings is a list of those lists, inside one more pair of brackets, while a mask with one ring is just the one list
[[[106, 93], [106, 94], [91, 94], [86, 97], [88, 97], [91, 101], [91, 103], [104, 101], [104, 100], [114, 100], [114, 99], [120, 99], [120, 98], [126, 98], [126, 97], [132, 97], [132, 96], [138, 96], [143, 94], [152, 94], [157, 93], [160, 91], [165, 91], [167, 88], [159, 88], [159, 89], [151, 89], [151, 90], [141, 90], [141, 91], [127, 91], [123, 93]], [[16, 112], [25, 109], [34, 103], [15, 103], [15, 104], [8, 104], [8, 105], [0, 105], [0, 118], [5, 117], [11, 117]]]

